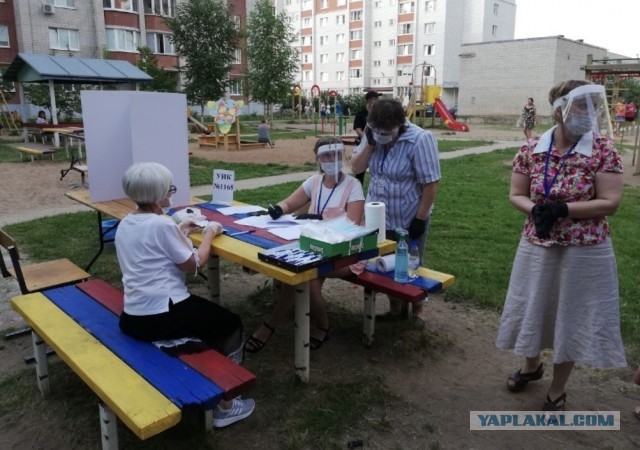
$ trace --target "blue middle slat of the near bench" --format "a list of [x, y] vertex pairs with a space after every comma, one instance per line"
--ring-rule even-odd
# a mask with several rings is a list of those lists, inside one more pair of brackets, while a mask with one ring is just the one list
[[190, 405], [212, 409], [222, 397], [220, 387], [180, 360], [122, 333], [118, 317], [75, 286], [48, 290], [45, 296], [180, 409]]

